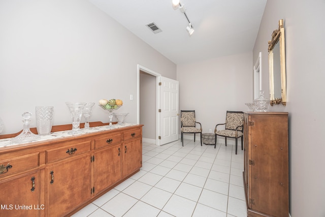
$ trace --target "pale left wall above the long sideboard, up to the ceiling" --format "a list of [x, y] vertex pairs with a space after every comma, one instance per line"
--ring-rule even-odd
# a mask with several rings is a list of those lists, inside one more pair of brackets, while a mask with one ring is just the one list
[[[54, 106], [53, 125], [62, 125], [71, 123], [64, 102], [102, 98], [122, 99], [118, 112], [135, 123], [137, 65], [176, 78], [174, 63], [87, 0], [0, 1], [0, 32], [3, 134], [21, 130], [35, 106]], [[96, 105], [90, 121], [108, 122], [108, 113]]]

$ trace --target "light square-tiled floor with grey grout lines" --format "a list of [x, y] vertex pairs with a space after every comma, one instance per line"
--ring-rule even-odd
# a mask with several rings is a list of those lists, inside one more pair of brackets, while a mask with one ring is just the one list
[[141, 170], [74, 217], [247, 216], [240, 145], [143, 143]]

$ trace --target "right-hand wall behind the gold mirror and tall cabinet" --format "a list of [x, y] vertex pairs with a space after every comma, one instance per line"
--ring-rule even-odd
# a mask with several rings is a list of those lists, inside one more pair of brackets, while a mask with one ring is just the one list
[[[263, 66], [268, 66], [267, 43], [279, 19], [284, 19], [287, 104], [271, 110], [289, 112], [290, 214], [323, 217], [325, 1], [267, 2], [253, 50], [253, 59], [262, 51]], [[268, 86], [269, 78], [262, 83]]]

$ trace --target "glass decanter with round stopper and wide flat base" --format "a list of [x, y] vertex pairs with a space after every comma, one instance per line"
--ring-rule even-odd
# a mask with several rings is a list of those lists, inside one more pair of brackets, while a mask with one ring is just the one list
[[30, 131], [29, 129], [29, 122], [30, 122], [30, 117], [31, 117], [31, 113], [30, 112], [24, 112], [21, 115], [24, 120], [24, 127], [22, 132], [11, 139], [11, 142], [13, 143], [25, 143], [25, 142], [32, 142], [32, 141], [37, 141], [39, 140], [41, 137], [37, 134], [34, 134]]

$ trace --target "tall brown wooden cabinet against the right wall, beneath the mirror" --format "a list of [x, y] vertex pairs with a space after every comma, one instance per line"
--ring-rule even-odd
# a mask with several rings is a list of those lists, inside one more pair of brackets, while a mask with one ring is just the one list
[[288, 113], [244, 114], [247, 216], [289, 214]]

